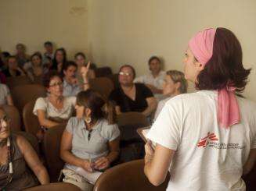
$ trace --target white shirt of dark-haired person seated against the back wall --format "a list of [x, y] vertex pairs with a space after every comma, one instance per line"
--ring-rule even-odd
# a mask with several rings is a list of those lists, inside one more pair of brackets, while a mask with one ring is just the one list
[[[157, 77], [154, 77], [152, 73], [149, 73], [147, 75], [139, 76], [139, 77], [135, 78], [134, 83], [150, 84], [150, 85], [162, 90], [165, 76], [166, 76], [166, 73], [164, 71], [160, 71], [160, 73]], [[153, 94], [153, 95], [154, 95], [154, 97], [157, 98], [157, 101], [164, 99], [163, 94]]]

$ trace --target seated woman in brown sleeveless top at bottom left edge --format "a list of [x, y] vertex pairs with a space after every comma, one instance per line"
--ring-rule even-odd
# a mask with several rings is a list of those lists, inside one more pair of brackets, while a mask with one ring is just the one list
[[37, 153], [23, 136], [11, 133], [9, 125], [0, 108], [0, 190], [23, 190], [37, 186], [38, 181], [48, 184], [49, 175]]

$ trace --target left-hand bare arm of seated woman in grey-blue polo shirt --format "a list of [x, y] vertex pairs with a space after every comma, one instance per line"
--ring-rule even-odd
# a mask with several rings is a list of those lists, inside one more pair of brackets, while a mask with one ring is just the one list
[[60, 142], [60, 157], [68, 164], [72, 164], [74, 166], [84, 168], [88, 172], [92, 172], [91, 163], [88, 160], [76, 157], [70, 152], [72, 148], [72, 139], [72, 134], [67, 132], [67, 130], [64, 130]]

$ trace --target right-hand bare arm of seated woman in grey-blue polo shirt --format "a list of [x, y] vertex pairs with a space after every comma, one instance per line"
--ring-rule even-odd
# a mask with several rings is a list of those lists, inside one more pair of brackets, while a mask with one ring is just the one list
[[115, 161], [119, 155], [119, 141], [120, 137], [118, 136], [117, 139], [112, 140], [108, 143], [110, 148], [110, 153], [106, 157], [100, 157], [96, 162], [94, 168], [102, 170], [108, 168], [110, 163]]

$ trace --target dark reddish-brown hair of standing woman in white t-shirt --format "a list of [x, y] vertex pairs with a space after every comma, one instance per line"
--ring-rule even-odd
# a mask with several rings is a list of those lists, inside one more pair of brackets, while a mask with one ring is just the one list
[[243, 91], [251, 69], [244, 69], [240, 42], [232, 31], [218, 28], [211, 59], [197, 76], [197, 90], [220, 90], [227, 85]]

